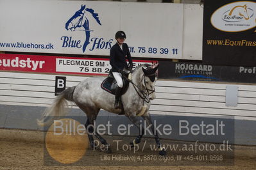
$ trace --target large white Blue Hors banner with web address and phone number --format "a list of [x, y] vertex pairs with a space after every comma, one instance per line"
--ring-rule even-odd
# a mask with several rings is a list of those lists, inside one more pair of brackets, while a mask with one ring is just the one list
[[183, 4], [0, 1], [0, 51], [109, 56], [123, 30], [134, 57], [182, 58]]

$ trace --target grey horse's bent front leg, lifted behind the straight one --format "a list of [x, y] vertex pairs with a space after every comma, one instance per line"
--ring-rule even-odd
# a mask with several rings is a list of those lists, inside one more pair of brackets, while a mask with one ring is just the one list
[[132, 123], [139, 128], [139, 135], [133, 139], [133, 141], [130, 143], [131, 147], [134, 147], [136, 144], [141, 143], [142, 135], [144, 135], [144, 127], [142, 127], [141, 122], [139, 121], [139, 118], [134, 116], [133, 114], [127, 116]]

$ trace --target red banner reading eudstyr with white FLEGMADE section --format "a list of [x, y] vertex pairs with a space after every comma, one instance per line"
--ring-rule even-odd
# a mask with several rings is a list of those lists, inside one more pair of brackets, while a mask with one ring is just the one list
[[[157, 61], [133, 60], [133, 68], [145, 63], [152, 64]], [[0, 54], [0, 70], [2, 71], [108, 75], [110, 69], [107, 58]]]

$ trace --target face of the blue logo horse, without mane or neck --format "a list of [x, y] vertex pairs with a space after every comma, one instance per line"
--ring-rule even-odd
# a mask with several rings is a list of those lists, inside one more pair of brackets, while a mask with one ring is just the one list
[[82, 27], [85, 24], [83, 16], [85, 15], [85, 5], [81, 5], [80, 10], [74, 13], [74, 15], [66, 22], [65, 29], [74, 31], [77, 27]]

